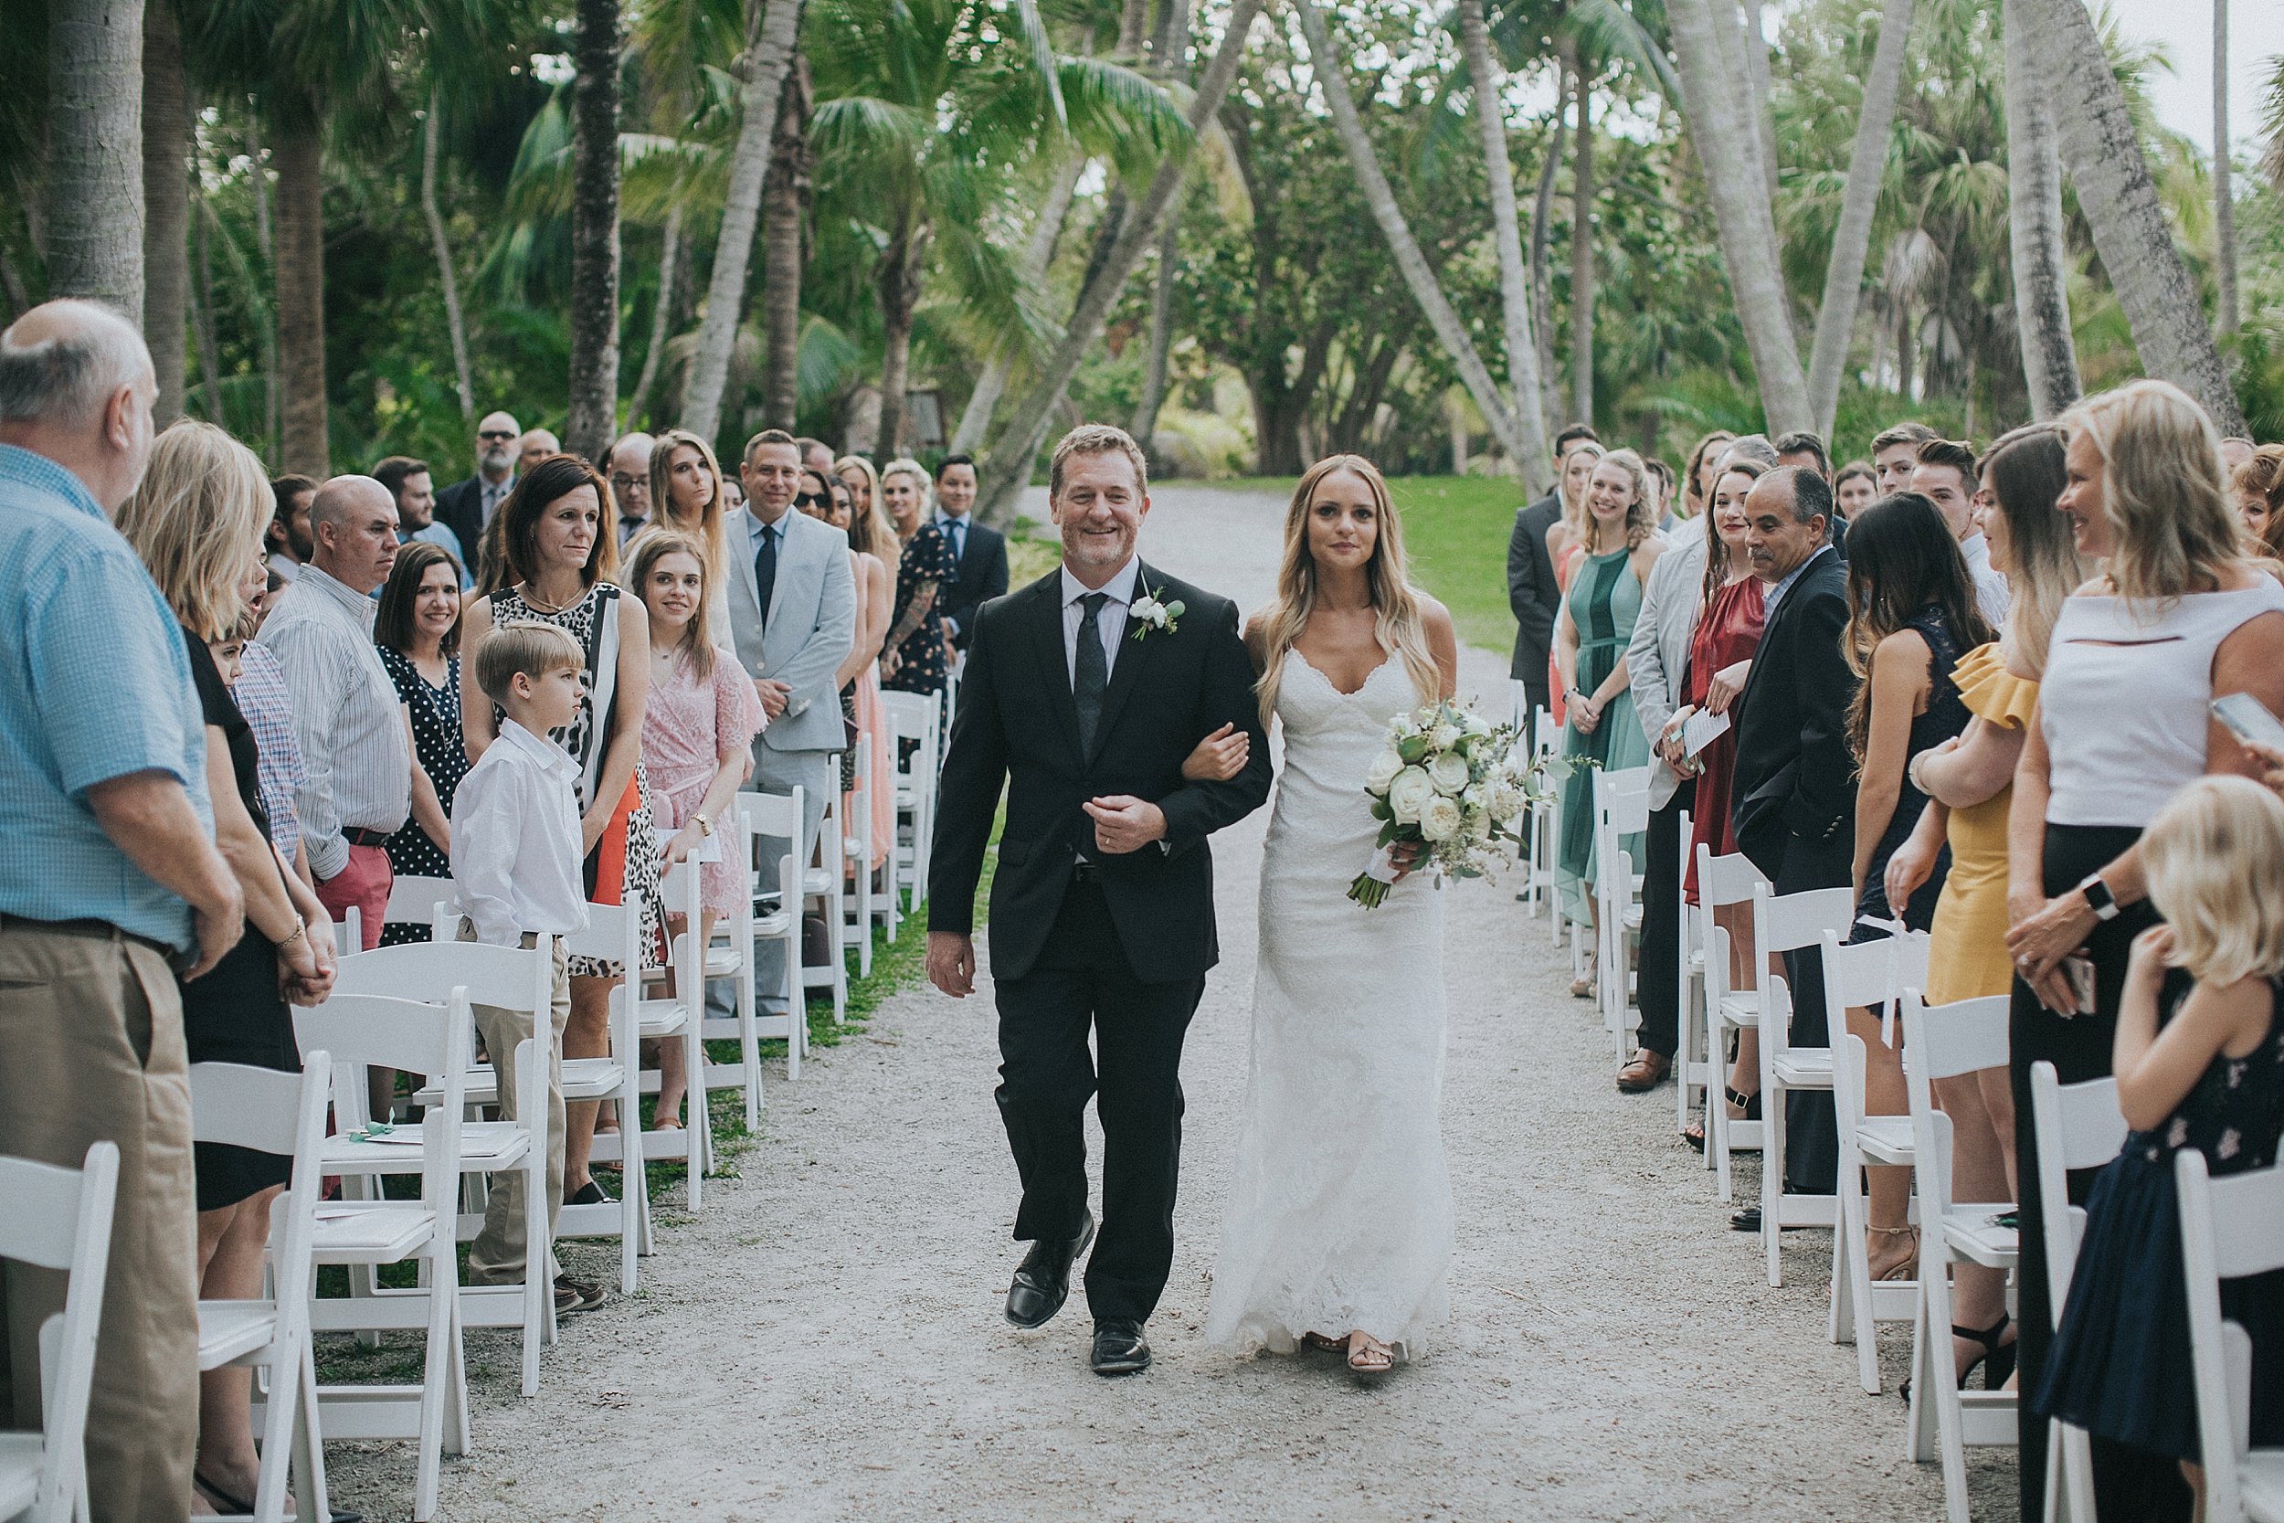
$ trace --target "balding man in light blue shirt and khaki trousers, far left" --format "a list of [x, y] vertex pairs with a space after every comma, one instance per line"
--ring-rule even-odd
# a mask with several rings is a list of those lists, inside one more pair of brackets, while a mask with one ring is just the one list
[[[110, 525], [151, 457], [142, 336], [91, 301], [0, 331], [0, 1153], [119, 1149], [87, 1411], [96, 1518], [180, 1518], [199, 1427], [196, 1190], [176, 970], [238, 941], [183, 630]], [[41, 1427], [64, 1276], [0, 1276], [0, 1429]]]

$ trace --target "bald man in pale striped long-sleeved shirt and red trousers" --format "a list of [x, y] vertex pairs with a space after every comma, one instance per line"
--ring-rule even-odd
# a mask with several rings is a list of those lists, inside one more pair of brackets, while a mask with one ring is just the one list
[[384, 845], [413, 799], [404, 712], [372, 644], [372, 589], [397, 559], [397, 500], [370, 475], [336, 475], [308, 507], [308, 537], [311, 562], [263, 621], [260, 642], [292, 696], [306, 769], [295, 806], [317, 897], [336, 920], [359, 909], [370, 952], [395, 884]]

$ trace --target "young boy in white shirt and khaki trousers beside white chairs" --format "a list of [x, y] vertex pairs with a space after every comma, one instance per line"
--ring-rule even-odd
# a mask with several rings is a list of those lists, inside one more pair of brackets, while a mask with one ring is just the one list
[[[459, 891], [461, 941], [514, 948], [555, 938], [555, 998], [548, 1064], [548, 1233], [564, 1203], [562, 1037], [571, 1018], [571, 975], [562, 936], [587, 929], [587, 884], [580, 872], [578, 765], [548, 731], [578, 717], [585, 653], [553, 623], [502, 623], [475, 648], [475, 685], [507, 719], [500, 738], [452, 795], [452, 884]], [[514, 1053], [532, 1039], [532, 1018], [477, 1005], [475, 1025], [500, 1087], [500, 1114], [514, 1119]], [[523, 1283], [523, 1176], [491, 1185], [484, 1231], [468, 1249], [475, 1286]], [[553, 1263], [555, 1311], [592, 1311], [601, 1286], [573, 1281]]]

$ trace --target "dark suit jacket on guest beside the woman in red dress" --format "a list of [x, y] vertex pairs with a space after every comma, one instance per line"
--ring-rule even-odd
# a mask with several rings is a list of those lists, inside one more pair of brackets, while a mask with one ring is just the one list
[[1738, 845], [1754, 861], [1782, 854], [1786, 833], [1829, 840], [1848, 829], [1848, 703], [1857, 678], [1841, 651], [1845, 628], [1848, 571], [1839, 555], [1818, 550], [1761, 630], [1738, 694], [1731, 808]]

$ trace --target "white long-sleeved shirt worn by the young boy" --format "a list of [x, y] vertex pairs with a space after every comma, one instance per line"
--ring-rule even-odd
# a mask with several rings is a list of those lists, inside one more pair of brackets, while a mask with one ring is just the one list
[[514, 719], [452, 795], [452, 886], [475, 938], [512, 948], [525, 932], [587, 929], [578, 763]]

